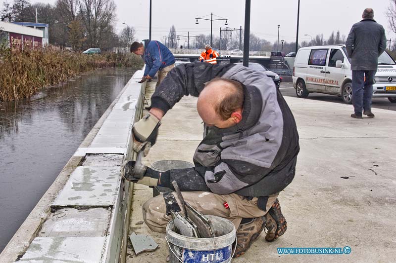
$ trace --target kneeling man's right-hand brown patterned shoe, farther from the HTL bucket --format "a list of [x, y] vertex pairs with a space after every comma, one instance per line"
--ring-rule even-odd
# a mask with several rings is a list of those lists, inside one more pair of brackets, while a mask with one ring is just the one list
[[286, 232], [288, 223], [281, 211], [281, 205], [279, 204], [278, 198], [276, 198], [274, 204], [265, 215], [267, 218], [267, 235], [265, 240], [272, 242]]

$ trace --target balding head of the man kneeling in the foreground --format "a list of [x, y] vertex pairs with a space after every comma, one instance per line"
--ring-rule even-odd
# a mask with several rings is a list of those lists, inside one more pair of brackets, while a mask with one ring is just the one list
[[[197, 110], [199, 116], [209, 126], [218, 127], [219, 125], [216, 124], [219, 123], [220, 126], [232, 126], [235, 124], [232, 121], [232, 115], [242, 113], [243, 103], [244, 90], [241, 83], [225, 78], [215, 78], [209, 81], [199, 94]], [[228, 123], [224, 123], [227, 121]]]

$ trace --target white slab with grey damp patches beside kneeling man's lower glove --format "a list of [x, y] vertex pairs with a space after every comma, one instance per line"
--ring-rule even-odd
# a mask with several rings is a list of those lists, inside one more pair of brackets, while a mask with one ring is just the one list
[[109, 206], [119, 188], [120, 167], [77, 167], [52, 206]]

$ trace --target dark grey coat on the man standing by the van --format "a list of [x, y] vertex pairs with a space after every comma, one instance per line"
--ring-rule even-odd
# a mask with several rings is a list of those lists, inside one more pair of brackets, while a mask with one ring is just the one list
[[376, 71], [378, 57], [387, 45], [385, 30], [374, 19], [363, 19], [352, 26], [346, 45], [352, 70]]

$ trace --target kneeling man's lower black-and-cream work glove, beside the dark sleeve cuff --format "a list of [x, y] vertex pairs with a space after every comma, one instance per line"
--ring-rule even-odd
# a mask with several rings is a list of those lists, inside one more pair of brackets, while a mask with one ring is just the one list
[[148, 187], [156, 187], [158, 185], [159, 172], [145, 166], [142, 175], [134, 175], [133, 170], [136, 161], [127, 161], [123, 164], [121, 168], [121, 176], [125, 180], [131, 181], [133, 183], [145, 185]]

